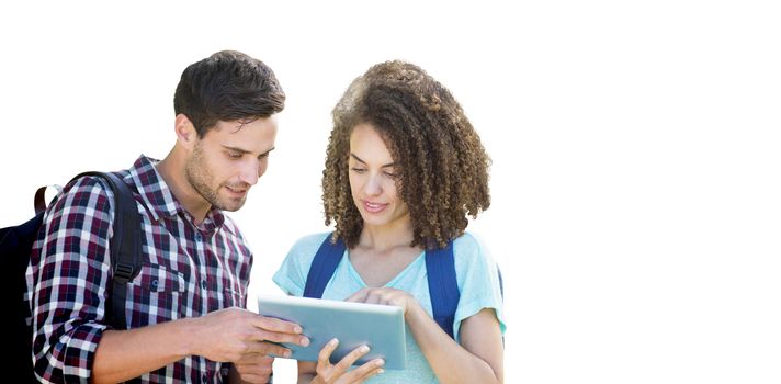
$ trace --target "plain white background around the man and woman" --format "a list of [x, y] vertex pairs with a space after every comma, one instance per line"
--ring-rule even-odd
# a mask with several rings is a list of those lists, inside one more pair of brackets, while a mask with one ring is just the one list
[[451, 89], [494, 160], [469, 230], [505, 272], [507, 383], [781, 382], [771, 1], [18, 3], [0, 5], [0, 226], [41, 184], [165, 157], [181, 71], [238, 49], [287, 93], [233, 215], [252, 292], [276, 293], [291, 245], [327, 229], [331, 108], [400, 58]]

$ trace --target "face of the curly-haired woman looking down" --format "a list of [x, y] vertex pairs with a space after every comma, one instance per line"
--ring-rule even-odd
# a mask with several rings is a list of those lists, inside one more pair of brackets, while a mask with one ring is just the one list
[[385, 142], [371, 124], [350, 135], [350, 190], [364, 226], [410, 221], [409, 208], [396, 189], [396, 166]]

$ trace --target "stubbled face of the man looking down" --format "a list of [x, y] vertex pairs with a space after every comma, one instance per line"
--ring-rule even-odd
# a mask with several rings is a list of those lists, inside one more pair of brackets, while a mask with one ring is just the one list
[[185, 163], [186, 180], [212, 206], [237, 211], [265, 173], [275, 138], [275, 115], [251, 123], [220, 121], [195, 143]]

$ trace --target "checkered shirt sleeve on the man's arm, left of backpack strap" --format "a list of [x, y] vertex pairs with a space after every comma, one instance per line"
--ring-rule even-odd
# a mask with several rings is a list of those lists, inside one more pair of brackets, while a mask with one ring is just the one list
[[44, 383], [88, 382], [106, 326], [111, 191], [81, 178], [53, 204], [31, 255], [33, 354]]

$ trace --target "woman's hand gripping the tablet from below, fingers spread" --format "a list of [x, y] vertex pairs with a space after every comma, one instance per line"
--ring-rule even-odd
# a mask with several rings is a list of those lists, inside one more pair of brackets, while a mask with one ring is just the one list
[[337, 364], [330, 363], [331, 353], [337, 349], [339, 340], [332, 339], [322, 347], [320, 353], [317, 355], [317, 375], [312, 381], [316, 384], [348, 384], [348, 383], [363, 383], [371, 376], [385, 372], [383, 370], [383, 364], [385, 361], [383, 359], [374, 359], [366, 362], [365, 364], [348, 371], [358, 359], [369, 353], [369, 347], [362, 346], [352, 350], [348, 353], [341, 361]]

